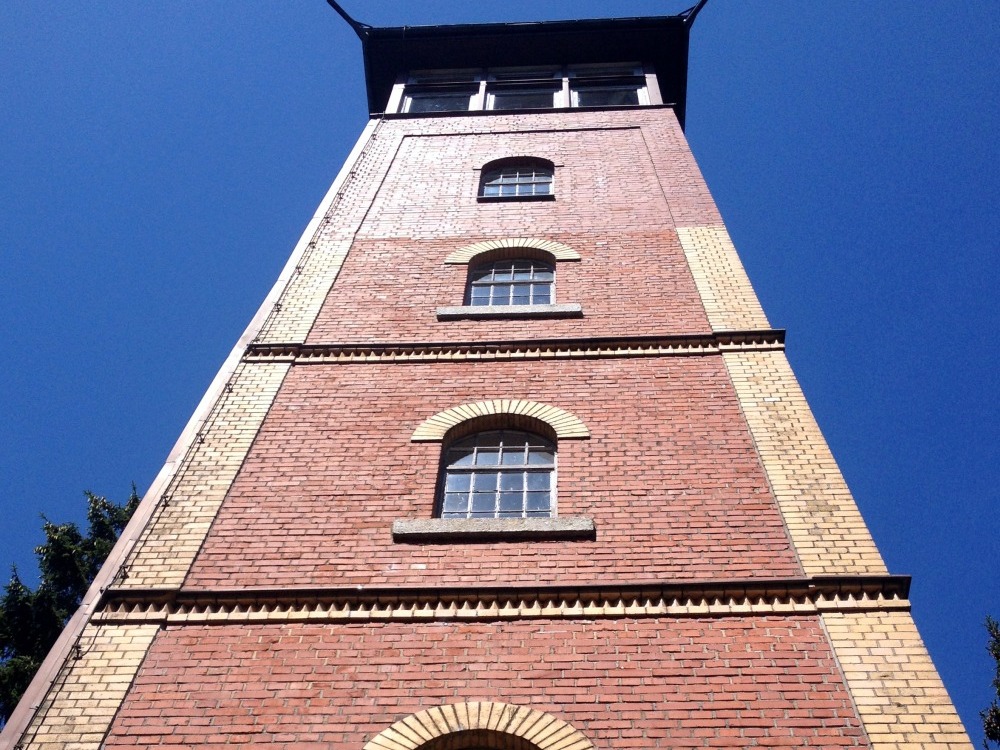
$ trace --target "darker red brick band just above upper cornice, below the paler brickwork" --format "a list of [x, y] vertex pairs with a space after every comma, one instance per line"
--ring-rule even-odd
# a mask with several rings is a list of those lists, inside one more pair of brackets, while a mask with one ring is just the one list
[[582, 318], [438, 321], [438, 307], [463, 304], [469, 270], [467, 265], [446, 265], [444, 259], [463, 245], [489, 237], [469, 234], [458, 242], [359, 240], [308, 342], [495, 341], [711, 331], [675, 232], [535, 234], [569, 245], [583, 256], [579, 262], [556, 263], [555, 281], [555, 301], [580, 304]]

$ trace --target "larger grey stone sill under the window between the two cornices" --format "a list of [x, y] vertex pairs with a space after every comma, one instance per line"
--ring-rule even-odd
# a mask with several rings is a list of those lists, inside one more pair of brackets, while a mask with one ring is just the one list
[[392, 522], [392, 540], [429, 542], [507, 542], [525, 540], [593, 540], [594, 520], [587, 516], [559, 518], [400, 518]]

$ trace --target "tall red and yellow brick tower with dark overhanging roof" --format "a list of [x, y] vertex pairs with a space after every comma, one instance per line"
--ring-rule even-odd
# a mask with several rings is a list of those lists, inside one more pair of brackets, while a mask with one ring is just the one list
[[5, 747], [970, 747], [684, 139], [695, 13], [354, 24], [375, 114]]

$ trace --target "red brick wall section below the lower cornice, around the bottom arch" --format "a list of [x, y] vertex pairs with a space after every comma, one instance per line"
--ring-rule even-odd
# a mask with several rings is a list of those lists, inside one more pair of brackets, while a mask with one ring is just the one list
[[356, 750], [463, 701], [608, 750], [868, 746], [817, 618], [790, 616], [168, 629], [106, 747]]

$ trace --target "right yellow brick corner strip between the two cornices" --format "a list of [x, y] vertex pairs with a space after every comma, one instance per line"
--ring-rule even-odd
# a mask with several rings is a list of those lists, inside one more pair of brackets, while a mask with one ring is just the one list
[[723, 361], [806, 575], [886, 572], [784, 352]]

